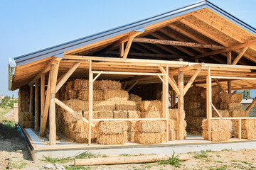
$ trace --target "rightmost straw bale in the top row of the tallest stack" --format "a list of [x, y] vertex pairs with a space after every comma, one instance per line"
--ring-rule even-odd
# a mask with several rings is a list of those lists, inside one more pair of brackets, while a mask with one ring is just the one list
[[121, 83], [119, 81], [100, 80], [97, 81], [97, 89], [101, 91], [121, 90]]

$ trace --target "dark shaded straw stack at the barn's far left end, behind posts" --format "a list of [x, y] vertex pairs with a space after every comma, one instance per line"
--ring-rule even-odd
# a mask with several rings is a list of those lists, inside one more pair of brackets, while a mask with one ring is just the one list
[[18, 91], [18, 123], [22, 128], [33, 128], [33, 113], [29, 113], [30, 86]]

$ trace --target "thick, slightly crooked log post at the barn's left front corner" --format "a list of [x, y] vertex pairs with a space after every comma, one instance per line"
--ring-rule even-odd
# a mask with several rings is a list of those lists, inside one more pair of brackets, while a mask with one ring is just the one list
[[53, 73], [50, 79], [50, 111], [49, 111], [49, 141], [50, 145], [56, 145], [56, 113], [55, 113], [55, 88], [58, 77], [59, 61], [55, 61], [50, 65], [50, 70]]

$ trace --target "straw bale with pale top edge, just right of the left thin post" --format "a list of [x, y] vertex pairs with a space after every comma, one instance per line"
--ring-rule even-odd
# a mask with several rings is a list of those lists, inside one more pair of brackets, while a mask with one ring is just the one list
[[[86, 105], [88, 107], [88, 103]], [[114, 111], [115, 102], [114, 101], [93, 101], [94, 111]]]

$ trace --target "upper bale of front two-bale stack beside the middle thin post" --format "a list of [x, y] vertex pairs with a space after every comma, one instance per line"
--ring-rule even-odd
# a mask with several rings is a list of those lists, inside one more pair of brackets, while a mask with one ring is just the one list
[[164, 132], [166, 123], [163, 120], [142, 120], [137, 121], [136, 130], [138, 132]]

